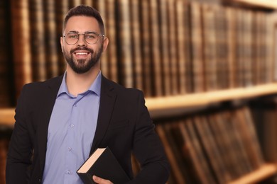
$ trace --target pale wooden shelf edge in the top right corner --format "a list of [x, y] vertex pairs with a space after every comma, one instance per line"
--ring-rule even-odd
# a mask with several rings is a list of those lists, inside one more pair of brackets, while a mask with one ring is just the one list
[[246, 6], [256, 6], [261, 8], [277, 9], [276, 0], [224, 0], [224, 1], [232, 1], [237, 4], [245, 4]]

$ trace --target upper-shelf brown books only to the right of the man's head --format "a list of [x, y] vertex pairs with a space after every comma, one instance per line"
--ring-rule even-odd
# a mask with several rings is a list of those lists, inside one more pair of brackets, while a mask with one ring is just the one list
[[102, 71], [146, 96], [274, 81], [273, 13], [185, 0], [105, 5], [111, 44]]

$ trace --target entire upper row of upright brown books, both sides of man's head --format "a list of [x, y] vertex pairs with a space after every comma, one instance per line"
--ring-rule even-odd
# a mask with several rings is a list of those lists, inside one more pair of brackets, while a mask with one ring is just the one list
[[63, 74], [63, 18], [81, 3], [104, 18], [103, 74], [146, 97], [274, 81], [273, 13], [186, 0], [1, 1], [1, 107], [23, 84]]

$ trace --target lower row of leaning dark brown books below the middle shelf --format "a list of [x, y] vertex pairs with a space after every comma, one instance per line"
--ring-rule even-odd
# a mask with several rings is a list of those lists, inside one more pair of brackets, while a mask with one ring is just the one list
[[[156, 120], [171, 166], [168, 184], [229, 183], [276, 162], [276, 99]], [[0, 183], [11, 131], [0, 130]], [[141, 167], [135, 156], [132, 166], [136, 176]]]

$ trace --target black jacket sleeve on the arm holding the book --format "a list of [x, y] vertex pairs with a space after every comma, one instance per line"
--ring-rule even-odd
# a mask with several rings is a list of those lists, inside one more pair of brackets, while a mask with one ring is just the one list
[[133, 150], [141, 163], [141, 172], [130, 183], [166, 183], [170, 164], [165, 156], [163, 144], [155, 132], [155, 125], [145, 106], [142, 93], [139, 96]]

